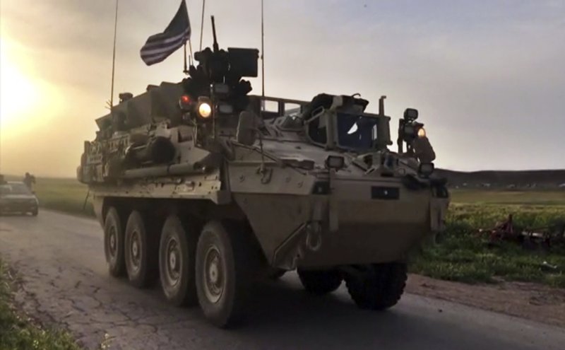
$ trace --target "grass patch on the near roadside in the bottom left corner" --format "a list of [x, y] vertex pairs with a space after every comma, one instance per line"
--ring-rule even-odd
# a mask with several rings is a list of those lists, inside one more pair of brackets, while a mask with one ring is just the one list
[[0, 259], [0, 349], [78, 350], [66, 332], [44, 329], [13, 308], [13, 276]]

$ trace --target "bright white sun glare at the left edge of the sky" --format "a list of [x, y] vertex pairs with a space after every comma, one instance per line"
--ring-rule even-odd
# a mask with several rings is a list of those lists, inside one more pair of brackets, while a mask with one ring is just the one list
[[0, 47], [0, 126], [7, 129], [28, 119], [35, 104], [30, 101], [37, 98], [40, 91], [16, 63], [11, 45], [2, 39]]

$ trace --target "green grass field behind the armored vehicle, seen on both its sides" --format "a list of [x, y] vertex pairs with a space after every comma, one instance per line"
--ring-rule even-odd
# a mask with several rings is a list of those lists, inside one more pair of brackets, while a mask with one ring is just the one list
[[[74, 179], [37, 178], [35, 185], [40, 205], [71, 214], [93, 215], [92, 204], [83, 204], [87, 187]], [[542, 227], [565, 221], [564, 190], [472, 190], [453, 189], [447, 229], [434, 246], [425, 247], [413, 257], [410, 270], [438, 279], [467, 283], [537, 281], [565, 287], [565, 249], [551, 252], [523, 250], [514, 243], [489, 247], [478, 228], [492, 228], [508, 214], [516, 226]], [[557, 266], [550, 271], [544, 262]]]

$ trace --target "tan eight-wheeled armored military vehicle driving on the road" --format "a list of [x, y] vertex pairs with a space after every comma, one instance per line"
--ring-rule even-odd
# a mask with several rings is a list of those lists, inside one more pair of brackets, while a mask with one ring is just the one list
[[[360, 308], [397, 303], [408, 252], [444, 225], [448, 191], [417, 110], [368, 101], [248, 95], [258, 50], [206, 48], [180, 83], [120, 95], [85, 141], [78, 180], [93, 193], [112, 276], [160, 279], [176, 305], [220, 327], [249, 286], [297, 269], [316, 295], [343, 281]], [[404, 145], [407, 146], [403, 150]]]

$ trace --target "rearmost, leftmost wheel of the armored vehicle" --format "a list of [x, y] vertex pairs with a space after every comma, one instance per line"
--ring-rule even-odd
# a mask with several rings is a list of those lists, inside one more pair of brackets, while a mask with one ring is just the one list
[[108, 209], [104, 221], [104, 252], [109, 273], [114, 277], [124, 276], [124, 229], [118, 211], [113, 206]]

